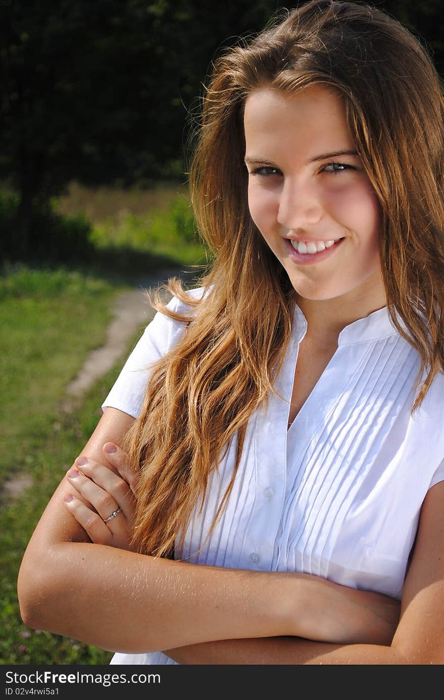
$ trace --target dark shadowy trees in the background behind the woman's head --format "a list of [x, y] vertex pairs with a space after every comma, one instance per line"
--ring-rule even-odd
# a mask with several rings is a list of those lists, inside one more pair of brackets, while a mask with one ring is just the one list
[[[262, 29], [281, 6], [275, 0], [3, 0], [0, 179], [20, 194], [22, 250], [44, 235], [31, 226], [33, 211], [44, 210], [73, 179], [120, 186], [186, 179], [189, 109], [203, 94], [212, 60]], [[436, 0], [380, 6], [401, 21], [414, 18], [439, 60]]]

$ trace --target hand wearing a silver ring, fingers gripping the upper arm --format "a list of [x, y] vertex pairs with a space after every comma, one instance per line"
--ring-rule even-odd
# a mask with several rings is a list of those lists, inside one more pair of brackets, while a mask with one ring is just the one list
[[[115, 448], [115, 451], [106, 448]], [[64, 505], [94, 544], [131, 549], [137, 475], [127, 468], [126, 455], [120, 447], [107, 442], [103, 452], [115, 471], [85, 456], [78, 457], [66, 474], [78, 493], [66, 493]], [[87, 504], [76, 498], [78, 494]]]

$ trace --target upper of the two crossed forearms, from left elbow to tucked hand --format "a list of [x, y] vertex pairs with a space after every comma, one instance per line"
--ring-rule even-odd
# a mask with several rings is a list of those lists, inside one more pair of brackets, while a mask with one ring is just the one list
[[307, 574], [181, 563], [88, 542], [25, 554], [18, 592], [28, 626], [127, 653], [287, 635], [383, 644], [399, 615], [384, 596]]

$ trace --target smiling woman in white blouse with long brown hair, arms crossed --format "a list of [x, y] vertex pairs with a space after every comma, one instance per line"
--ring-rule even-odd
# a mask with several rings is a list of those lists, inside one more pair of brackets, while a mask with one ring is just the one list
[[370, 6], [215, 63], [213, 265], [170, 282], [43, 513], [28, 625], [117, 664], [443, 663], [443, 106]]

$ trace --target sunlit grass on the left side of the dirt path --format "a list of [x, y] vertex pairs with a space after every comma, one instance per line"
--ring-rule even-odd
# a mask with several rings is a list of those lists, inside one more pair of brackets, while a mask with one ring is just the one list
[[34, 472], [64, 388], [105, 341], [122, 288], [63, 268], [17, 266], [0, 279], [0, 483]]

